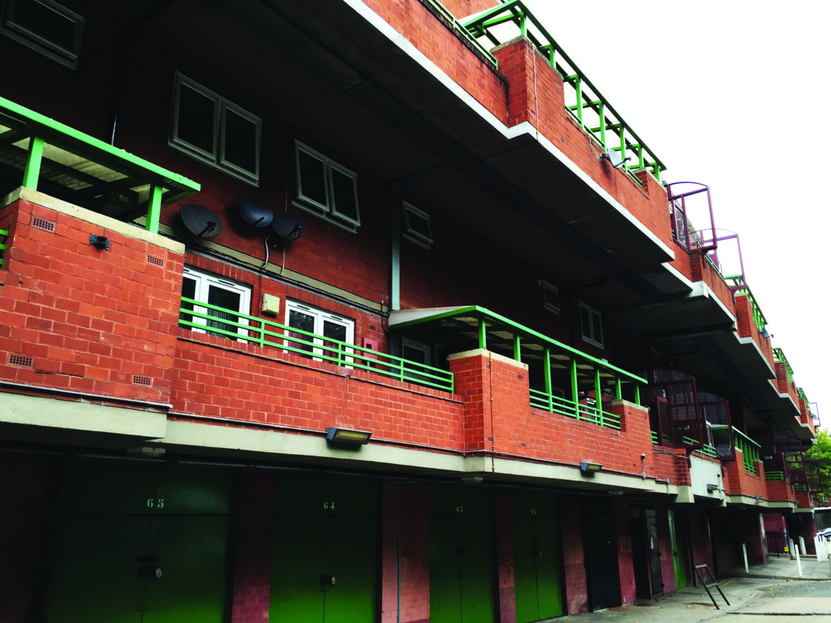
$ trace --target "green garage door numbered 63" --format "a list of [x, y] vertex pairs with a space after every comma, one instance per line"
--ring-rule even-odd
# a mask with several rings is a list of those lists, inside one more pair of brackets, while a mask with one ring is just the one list
[[430, 488], [430, 623], [494, 621], [490, 492]]

